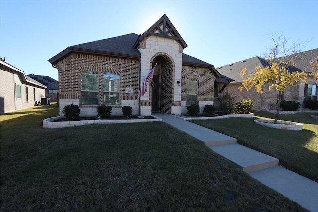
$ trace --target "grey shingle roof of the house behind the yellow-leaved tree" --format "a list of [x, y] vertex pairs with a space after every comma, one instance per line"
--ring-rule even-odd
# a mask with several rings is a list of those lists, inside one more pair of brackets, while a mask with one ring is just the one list
[[[311, 65], [313, 64], [316, 57], [318, 57], [318, 49], [313, 49], [309, 51], [300, 52], [297, 54], [290, 55], [288, 57], [294, 58], [294, 66], [288, 67], [289, 72], [294, 71], [310, 71]], [[277, 58], [277, 60], [281, 59], [282, 57]], [[288, 59], [287, 59], [288, 60]], [[243, 79], [247, 77], [248, 74], [245, 74], [242, 78], [239, 73], [243, 70], [243, 68], [247, 68], [247, 73], [255, 72], [256, 67], [262, 66], [266, 67], [270, 64], [261, 57], [253, 57], [249, 59], [245, 59], [239, 62], [227, 64], [224, 66], [217, 67], [216, 69], [223, 75], [229, 76], [235, 80], [233, 83], [242, 83]]]

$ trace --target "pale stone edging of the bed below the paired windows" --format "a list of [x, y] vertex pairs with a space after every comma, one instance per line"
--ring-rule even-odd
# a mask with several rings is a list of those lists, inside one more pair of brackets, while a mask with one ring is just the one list
[[137, 123], [137, 122], [160, 122], [161, 118], [152, 116], [155, 119], [96, 119], [96, 120], [80, 120], [80, 121], [63, 121], [54, 122], [54, 120], [60, 119], [63, 116], [51, 117], [43, 120], [43, 128], [64, 128], [64, 127], [74, 127], [81, 125], [91, 125], [91, 124], [115, 124], [115, 123]]

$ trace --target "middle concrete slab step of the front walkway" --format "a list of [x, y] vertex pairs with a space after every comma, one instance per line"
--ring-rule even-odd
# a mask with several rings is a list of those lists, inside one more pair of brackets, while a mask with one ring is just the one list
[[214, 152], [234, 162], [245, 172], [253, 172], [278, 165], [278, 159], [238, 143], [209, 146]]

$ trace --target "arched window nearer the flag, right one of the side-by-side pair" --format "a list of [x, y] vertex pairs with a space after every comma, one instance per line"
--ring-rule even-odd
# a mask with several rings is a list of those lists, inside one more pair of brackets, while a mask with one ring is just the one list
[[119, 105], [119, 75], [103, 73], [103, 97], [105, 105]]

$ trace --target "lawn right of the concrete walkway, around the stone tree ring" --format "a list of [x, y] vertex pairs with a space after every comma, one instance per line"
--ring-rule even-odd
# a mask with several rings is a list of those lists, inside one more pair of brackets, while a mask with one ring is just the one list
[[255, 124], [254, 119], [275, 114], [254, 113], [252, 118], [194, 120], [212, 130], [237, 138], [238, 143], [279, 159], [282, 166], [318, 182], [318, 119], [311, 113], [280, 115], [279, 120], [303, 123], [302, 131], [289, 131]]

